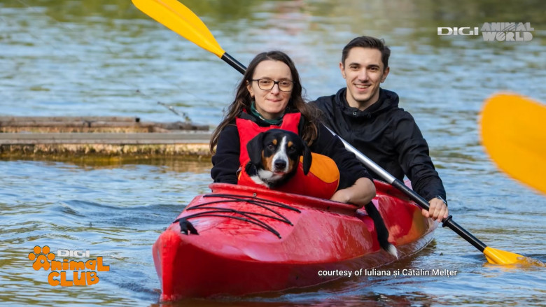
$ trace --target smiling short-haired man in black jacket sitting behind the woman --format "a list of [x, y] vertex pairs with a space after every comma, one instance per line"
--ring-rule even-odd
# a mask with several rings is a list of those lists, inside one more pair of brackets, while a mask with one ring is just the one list
[[354, 38], [339, 63], [346, 87], [315, 103], [336, 134], [399, 180], [406, 175], [430, 204], [423, 215], [441, 221], [448, 213], [446, 194], [428, 145], [412, 115], [398, 107], [398, 95], [379, 87], [388, 76], [389, 55], [391, 50], [377, 38]]

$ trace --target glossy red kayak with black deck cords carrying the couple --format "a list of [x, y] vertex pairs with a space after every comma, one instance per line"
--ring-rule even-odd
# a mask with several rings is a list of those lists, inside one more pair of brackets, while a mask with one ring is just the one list
[[[375, 186], [373, 203], [398, 255], [424, 248], [437, 222], [390, 185]], [[396, 260], [379, 248], [363, 209], [255, 187], [210, 187], [153, 245], [162, 301], [308, 287]]]

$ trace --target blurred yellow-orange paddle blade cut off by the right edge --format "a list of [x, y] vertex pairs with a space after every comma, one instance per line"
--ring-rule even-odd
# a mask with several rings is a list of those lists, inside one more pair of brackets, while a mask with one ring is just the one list
[[482, 111], [482, 141], [513, 178], [546, 193], [546, 106], [516, 94], [497, 94]]

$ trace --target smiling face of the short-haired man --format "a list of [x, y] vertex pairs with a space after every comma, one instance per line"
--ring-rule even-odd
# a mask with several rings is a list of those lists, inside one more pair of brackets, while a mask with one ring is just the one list
[[346, 99], [349, 106], [364, 110], [379, 99], [379, 85], [388, 75], [384, 69], [381, 51], [355, 47], [349, 51], [345, 63], [339, 69], [347, 83]]

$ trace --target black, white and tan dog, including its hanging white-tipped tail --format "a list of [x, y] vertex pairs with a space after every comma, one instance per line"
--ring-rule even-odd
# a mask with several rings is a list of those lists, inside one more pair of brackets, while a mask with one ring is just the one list
[[[245, 171], [258, 185], [274, 189], [286, 183], [295, 173], [301, 156], [304, 175], [311, 168], [311, 150], [300, 136], [290, 131], [271, 129], [261, 132], [248, 142], [246, 150], [250, 162]], [[388, 229], [379, 210], [371, 201], [364, 208], [374, 222], [379, 246], [398, 258], [396, 248], [388, 243]]]

